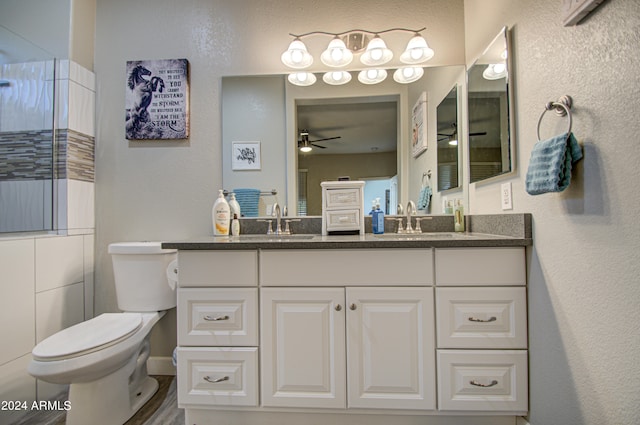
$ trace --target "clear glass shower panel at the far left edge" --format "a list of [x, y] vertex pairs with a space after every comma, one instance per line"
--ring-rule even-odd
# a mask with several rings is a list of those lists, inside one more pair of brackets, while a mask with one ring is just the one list
[[0, 25], [0, 233], [55, 229], [55, 58]]

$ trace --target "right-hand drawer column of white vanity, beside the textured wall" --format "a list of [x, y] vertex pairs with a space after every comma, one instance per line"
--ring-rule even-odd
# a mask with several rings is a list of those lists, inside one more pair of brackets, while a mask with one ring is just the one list
[[524, 248], [436, 249], [435, 270], [438, 409], [525, 413]]

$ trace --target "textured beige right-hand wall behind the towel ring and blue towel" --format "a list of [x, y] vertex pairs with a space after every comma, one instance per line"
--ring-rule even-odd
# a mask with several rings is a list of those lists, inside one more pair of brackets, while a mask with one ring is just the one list
[[[529, 422], [636, 424], [640, 420], [640, 9], [604, 2], [563, 27], [556, 0], [465, 0], [467, 58], [513, 27], [517, 173], [471, 185], [474, 214], [499, 213], [511, 181], [516, 212], [533, 214], [529, 268]], [[573, 97], [584, 146], [561, 194], [529, 196], [524, 180], [544, 104]], [[543, 135], [566, 122], [547, 114]], [[546, 127], [545, 127], [546, 126]], [[544, 137], [544, 136], [543, 136]]]

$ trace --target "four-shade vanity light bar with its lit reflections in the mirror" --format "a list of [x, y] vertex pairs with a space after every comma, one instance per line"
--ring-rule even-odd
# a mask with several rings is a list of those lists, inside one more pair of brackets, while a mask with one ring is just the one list
[[[419, 66], [434, 56], [433, 50], [427, 45], [426, 40], [420, 32], [426, 28], [418, 30], [408, 28], [391, 28], [382, 31], [368, 31], [362, 29], [352, 29], [340, 33], [325, 31], [313, 31], [305, 34], [289, 34], [294, 40], [289, 45], [289, 49], [282, 53], [282, 63], [286, 66], [302, 70], [313, 64], [313, 57], [307, 50], [302, 38], [313, 35], [332, 36], [327, 48], [320, 55], [320, 61], [329, 68], [343, 68], [352, 63], [354, 55], [360, 55], [360, 62], [371, 69], [360, 68], [358, 80], [363, 84], [376, 84], [384, 81], [387, 77], [389, 67], [381, 68], [393, 58], [393, 52], [387, 47], [381, 34], [404, 31], [413, 33], [412, 38], [407, 43], [406, 49], [400, 54], [400, 61], [411, 67], [403, 67], [394, 72], [394, 79], [399, 83], [410, 83], [416, 81], [424, 74], [424, 70]], [[372, 36], [372, 37], [370, 37]], [[392, 68], [395, 68], [392, 67]], [[352, 71], [354, 71], [352, 69]], [[320, 71], [319, 71], [320, 72]], [[327, 84], [345, 84], [351, 80], [348, 70], [336, 71], [326, 70], [322, 79]], [[289, 76], [289, 82], [299, 86], [308, 86], [315, 82], [315, 77], [311, 73], [294, 73]]]

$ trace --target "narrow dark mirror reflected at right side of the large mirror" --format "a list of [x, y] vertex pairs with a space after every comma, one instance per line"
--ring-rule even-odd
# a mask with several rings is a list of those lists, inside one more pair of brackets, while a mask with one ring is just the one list
[[438, 191], [458, 187], [458, 87], [436, 110], [438, 123]]

